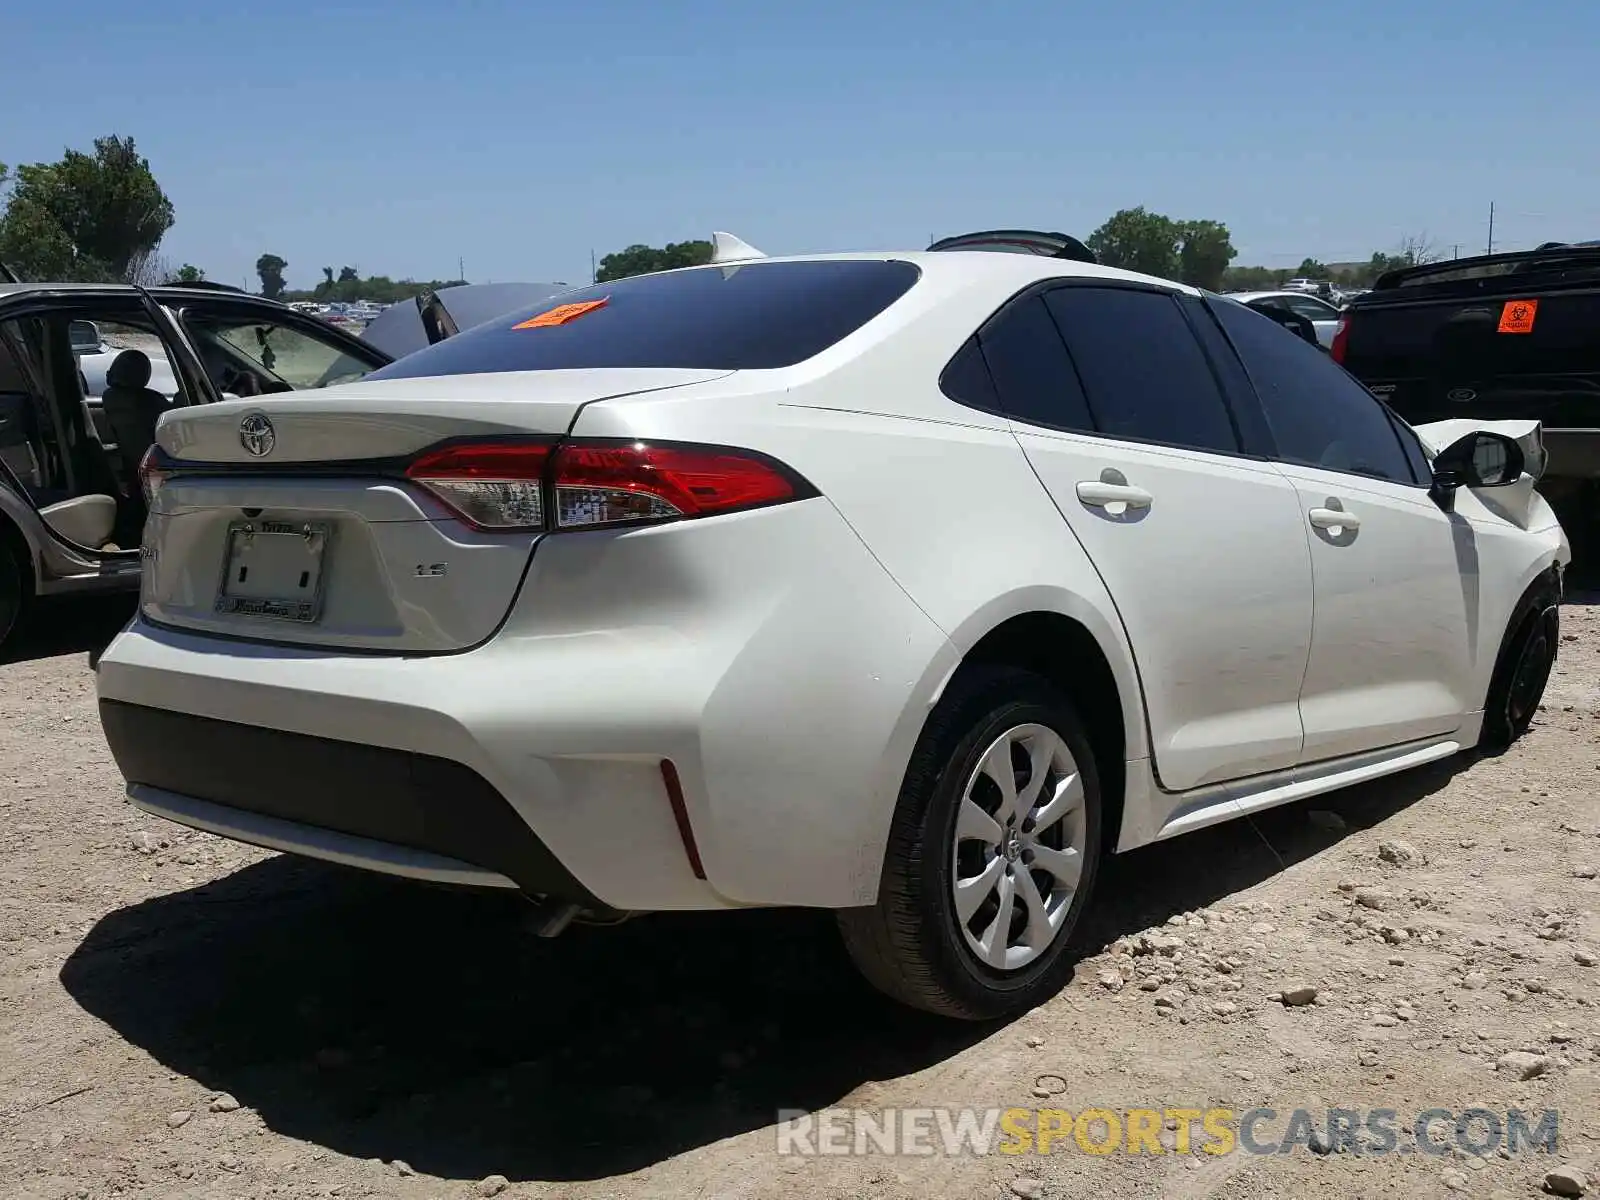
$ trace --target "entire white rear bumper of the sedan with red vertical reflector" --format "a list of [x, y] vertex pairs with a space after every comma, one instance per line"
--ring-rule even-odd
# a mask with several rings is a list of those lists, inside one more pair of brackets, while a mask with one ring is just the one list
[[96, 685], [130, 782], [226, 810], [211, 819], [234, 832], [218, 832], [245, 842], [264, 840], [246, 824], [286, 821], [288, 850], [333, 858], [328, 837], [357, 837], [379, 870], [400, 848], [630, 912], [851, 907], [877, 896], [906, 763], [955, 662], [832, 506], [806, 501], [549, 538], [469, 653], [139, 618]]

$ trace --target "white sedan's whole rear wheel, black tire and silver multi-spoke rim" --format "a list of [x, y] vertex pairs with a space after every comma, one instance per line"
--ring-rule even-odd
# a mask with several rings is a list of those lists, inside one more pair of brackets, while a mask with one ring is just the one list
[[915, 1008], [1026, 1011], [1070, 974], [1099, 845], [1099, 776], [1070, 702], [1024, 670], [963, 672], [912, 755], [878, 902], [840, 914], [845, 944]]

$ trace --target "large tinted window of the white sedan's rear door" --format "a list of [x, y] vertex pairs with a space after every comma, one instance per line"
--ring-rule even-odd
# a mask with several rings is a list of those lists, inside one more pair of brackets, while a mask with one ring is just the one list
[[1058, 288], [1048, 301], [1102, 434], [1238, 451], [1216, 376], [1170, 294]]

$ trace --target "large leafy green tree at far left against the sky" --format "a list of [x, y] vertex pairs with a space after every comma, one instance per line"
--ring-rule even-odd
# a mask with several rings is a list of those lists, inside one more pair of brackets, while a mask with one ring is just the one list
[[32, 278], [131, 280], [166, 230], [173, 203], [133, 138], [0, 173], [0, 259]]

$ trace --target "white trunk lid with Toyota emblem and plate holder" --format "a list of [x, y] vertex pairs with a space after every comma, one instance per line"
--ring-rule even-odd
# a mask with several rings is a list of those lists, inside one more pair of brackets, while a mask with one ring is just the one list
[[478, 645], [504, 621], [542, 533], [474, 526], [408, 480], [406, 466], [461, 438], [555, 440], [592, 400], [725, 374], [394, 379], [170, 413], [157, 430], [142, 611], [178, 629], [307, 648]]

